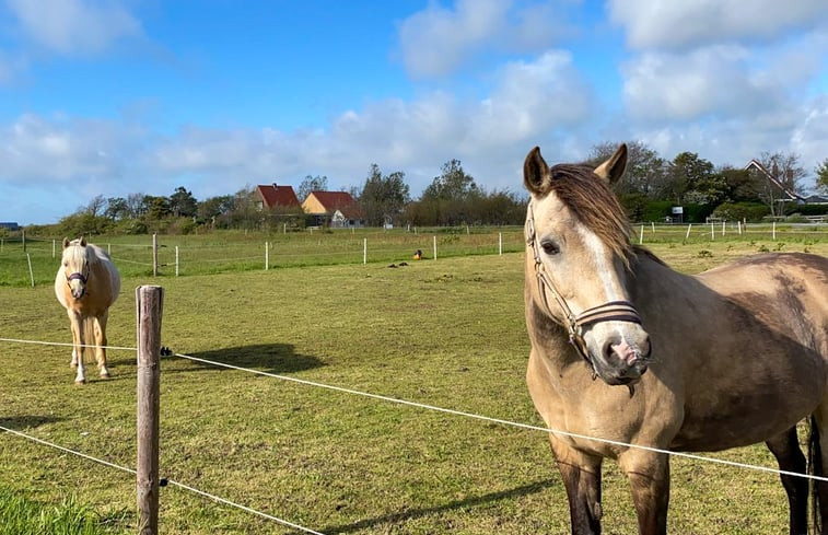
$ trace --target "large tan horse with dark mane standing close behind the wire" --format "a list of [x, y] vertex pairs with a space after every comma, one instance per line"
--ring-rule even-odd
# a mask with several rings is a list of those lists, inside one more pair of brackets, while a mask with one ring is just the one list
[[[609, 189], [626, 163], [626, 146], [597, 168], [550, 168], [538, 148], [524, 163], [526, 380], [548, 428], [563, 431], [549, 439], [574, 534], [600, 533], [605, 457], [629, 479], [642, 535], [667, 531], [666, 451], [765, 442], [782, 470], [828, 466], [828, 258], [762, 254], [678, 274], [630, 243]], [[808, 416], [814, 463], [796, 437]], [[805, 534], [808, 481], [781, 478], [790, 532]], [[818, 533], [827, 492], [817, 479]]]

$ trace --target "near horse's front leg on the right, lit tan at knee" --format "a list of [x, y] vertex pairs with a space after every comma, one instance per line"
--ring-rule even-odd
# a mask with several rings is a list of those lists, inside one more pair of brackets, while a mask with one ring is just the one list
[[618, 457], [632, 490], [640, 535], [667, 533], [669, 458], [666, 453], [630, 449]]

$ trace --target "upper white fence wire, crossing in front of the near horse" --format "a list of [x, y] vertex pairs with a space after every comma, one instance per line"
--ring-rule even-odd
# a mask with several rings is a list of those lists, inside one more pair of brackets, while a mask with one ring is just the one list
[[[71, 346], [71, 344], [51, 344], [51, 342], [45, 342], [45, 341], [20, 340], [20, 339], [12, 339], [12, 338], [0, 338], [0, 341], [10, 341], [10, 342], [18, 342], [18, 344], [40, 344], [40, 345], [55, 345], [55, 346], [66, 346], [66, 345], [69, 345], [69, 346]], [[116, 347], [109, 347], [109, 346], [105, 346], [105, 347], [107, 349], [124, 349], [124, 350], [137, 351], [136, 348], [116, 348]], [[174, 356], [178, 357], [178, 358], [182, 358], [182, 359], [186, 359], [186, 360], [190, 360], [190, 361], [195, 361], [195, 362], [202, 362], [205, 364], [211, 364], [211, 365], [219, 367], [219, 368], [228, 368], [230, 370], [236, 370], [236, 371], [241, 371], [241, 372], [253, 373], [253, 374], [256, 374], [256, 375], [264, 375], [264, 376], [267, 376], [267, 377], [280, 379], [282, 381], [290, 381], [290, 382], [298, 383], [298, 384], [303, 384], [303, 385], [306, 385], [306, 386], [315, 386], [315, 387], [318, 387], [318, 388], [326, 388], [326, 389], [329, 389], [329, 391], [341, 392], [341, 393], [345, 393], [345, 394], [352, 394], [352, 395], [355, 395], [355, 396], [369, 397], [369, 398], [372, 398], [372, 399], [380, 399], [380, 400], [383, 400], [383, 402], [389, 402], [389, 403], [395, 403], [395, 404], [399, 404], [399, 405], [407, 405], [409, 407], [417, 407], [417, 408], [421, 408], [421, 409], [433, 410], [433, 411], [436, 411], [436, 412], [444, 412], [444, 414], [447, 414], [447, 415], [463, 416], [463, 417], [466, 417], [466, 418], [474, 418], [476, 420], [482, 420], [482, 421], [488, 421], [488, 422], [492, 422], [492, 423], [500, 423], [502, 426], [511, 426], [511, 427], [516, 427], [516, 428], [520, 428], [520, 429], [527, 429], [527, 430], [530, 430], [530, 431], [543, 431], [543, 432], [546, 432], [546, 433], [552, 433], [552, 434], [557, 434], [557, 435], [560, 435], [560, 437], [569, 437], [569, 438], [572, 438], [572, 439], [591, 440], [591, 441], [594, 441], [594, 442], [600, 442], [600, 443], [604, 443], [604, 444], [610, 444], [610, 445], [615, 445], [615, 446], [631, 447], [631, 449], [642, 450], [642, 451], [653, 452], [653, 453], [662, 453], [662, 454], [665, 454], [665, 455], [672, 455], [674, 457], [691, 458], [691, 460], [695, 460], [695, 461], [715, 463], [715, 464], [721, 464], [721, 465], [725, 465], [725, 466], [734, 466], [736, 468], [745, 468], [745, 469], [751, 469], [751, 470], [756, 470], [756, 472], [766, 472], [766, 473], [770, 473], [770, 474], [778, 474], [778, 475], [784, 475], [784, 476], [802, 477], [802, 478], [805, 478], [805, 479], [813, 479], [813, 480], [816, 480], [816, 481], [826, 481], [826, 482], [828, 482], [828, 477], [824, 477], [824, 476], [814, 476], [814, 475], [809, 475], [809, 474], [800, 474], [797, 472], [781, 470], [781, 469], [771, 468], [771, 467], [768, 467], [768, 466], [758, 466], [758, 465], [751, 465], [751, 464], [746, 464], [746, 463], [738, 463], [736, 461], [727, 461], [727, 460], [724, 460], [724, 458], [707, 457], [707, 456], [703, 456], [703, 455], [696, 455], [696, 454], [692, 454], [692, 453], [674, 452], [674, 451], [670, 451], [670, 450], [662, 450], [660, 447], [652, 447], [652, 446], [646, 446], [646, 445], [641, 445], [641, 444], [631, 444], [631, 443], [621, 442], [621, 441], [611, 440], [611, 439], [602, 439], [602, 438], [597, 438], [597, 437], [590, 437], [587, 434], [573, 433], [573, 432], [570, 432], [570, 431], [561, 431], [559, 429], [550, 429], [550, 428], [544, 428], [544, 427], [539, 427], [539, 426], [532, 426], [529, 423], [520, 423], [520, 422], [514, 422], [514, 421], [510, 421], [510, 420], [502, 420], [500, 418], [491, 418], [491, 417], [488, 417], [488, 416], [475, 415], [473, 412], [464, 412], [462, 410], [446, 409], [446, 408], [438, 407], [438, 406], [434, 406], [434, 405], [427, 405], [427, 404], [417, 403], [417, 402], [409, 402], [407, 399], [399, 399], [399, 398], [396, 398], [396, 397], [388, 397], [388, 396], [383, 396], [383, 395], [380, 395], [380, 394], [372, 394], [370, 392], [361, 392], [361, 391], [355, 391], [353, 388], [346, 388], [346, 387], [342, 387], [342, 386], [334, 386], [334, 385], [328, 385], [328, 384], [324, 384], [324, 383], [317, 383], [315, 381], [308, 381], [308, 380], [299, 379], [299, 377], [291, 377], [289, 375], [279, 375], [277, 373], [263, 372], [260, 370], [253, 370], [250, 368], [243, 368], [243, 367], [237, 367], [237, 365], [233, 365], [233, 364], [228, 364], [228, 363], [224, 363], [224, 362], [218, 362], [218, 361], [214, 361], [214, 360], [201, 359], [199, 357], [193, 357], [193, 356], [189, 356], [189, 354], [174, 353]]]

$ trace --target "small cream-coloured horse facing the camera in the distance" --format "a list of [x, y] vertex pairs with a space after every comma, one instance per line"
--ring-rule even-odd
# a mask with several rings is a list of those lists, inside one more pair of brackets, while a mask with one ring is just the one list
[[72, 367], [75, 383], [85, 383], [84, 357], [94, 353], [102, 377], [106, 369], [106, 321], [118, 298], [120, 276], [109, 255], [81, 237], [63, 239], [63, 257], [55, 277], [55, 294], [67, 310], [72, 328]]

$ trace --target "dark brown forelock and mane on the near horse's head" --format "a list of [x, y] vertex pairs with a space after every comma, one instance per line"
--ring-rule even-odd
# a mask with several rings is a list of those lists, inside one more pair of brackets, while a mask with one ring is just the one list
[[588, 165], [562, 163], [549, 171], [550, 190], [629, 267], [630, 223], [609, 186]]

